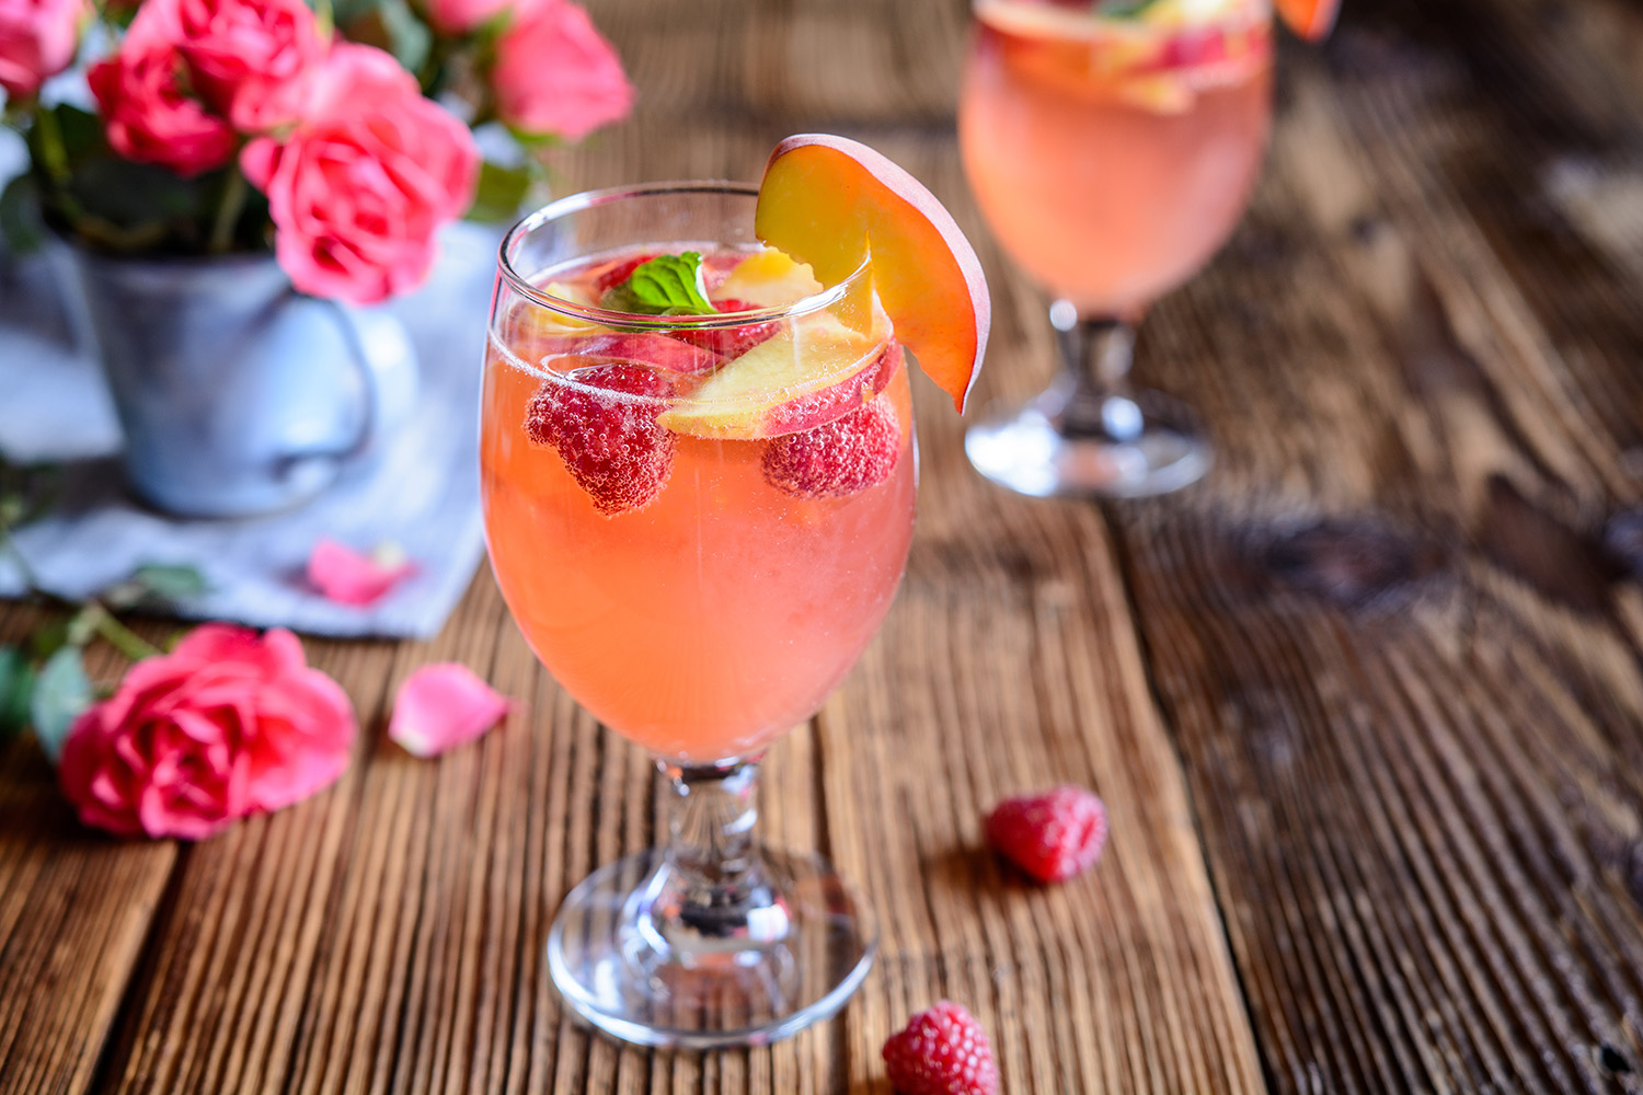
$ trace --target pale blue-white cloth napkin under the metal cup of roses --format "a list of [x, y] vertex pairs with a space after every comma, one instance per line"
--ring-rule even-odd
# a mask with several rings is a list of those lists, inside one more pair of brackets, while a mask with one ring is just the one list
[[[0, 181], [10, 174], [3, 161], [0, 148]], [[411, 424], [315, 501], [238, 520], [174, 519], [130, 497], [120, 427], [95, 361], [72, 345], [51, 258], [0, 253], [0, 451], [66, 468], [53, 512], [15, 535], [39, 584], [79, 599], [146, 563], [191, 565], [209, 591], [176, 606], [189, 619], [322, 635], [437, 634], [485, 552], [478, 399], [498, 241], [491, 228], [452, 225], [429, 282], [388, 305], [421, 363]], [[398, 543], [417, 570], [376, 604], [335, 604], [306, 580], [322, 537], [366, 552]], [[0, 596], [21, 591], [21, 575], [0, 557]]]

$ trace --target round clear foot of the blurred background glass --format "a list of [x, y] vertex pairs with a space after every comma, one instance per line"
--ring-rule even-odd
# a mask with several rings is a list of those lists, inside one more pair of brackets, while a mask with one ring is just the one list
[[1148, 497], [1199, 479], [1209, 443], [1193, 414], [1152, 391], [1099, 396], [1061, 383], [964, 433], [969, 463], [1033, 497]]

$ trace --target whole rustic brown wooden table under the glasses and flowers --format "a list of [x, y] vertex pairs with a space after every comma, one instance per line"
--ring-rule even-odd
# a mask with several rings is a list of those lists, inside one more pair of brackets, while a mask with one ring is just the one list
[[[881, 918], [840, 1019], [702, 1057], [565, 1018], [547, 919], [652, 842], [651, 768], [481, 575], [435, 642], [309, 644], [357, 762], [219, 839], [90, 834], [0, 747], [0, 1092], [884, 1092], [886, 1034], [941, 996], [1010, 1093], [1643, 1090], [1643, 8], [1347, 5], [1285, 48], [1254, 207], [1140, 343], [1211, 424], [1204, 484], [1006, 496], [922, 386], [900, 599], [766, 781], [771, 834]], [[595, 13], [644, 99], [567, 186], [859, 136], [981, 250], [981, 402], [1045, 383], [1043, 302], [958, 171], [964, 3]], [[36, 621], [0, 606], [0, 640]], [[529, 714], [407, 757], [384, 704], [434, 658]], [[979, 819], [1060, 780], [1112, 839], [1033, 888]]]

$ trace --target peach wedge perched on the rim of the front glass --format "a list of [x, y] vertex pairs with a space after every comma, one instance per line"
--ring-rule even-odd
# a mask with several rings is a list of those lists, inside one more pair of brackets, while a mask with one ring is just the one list
[[866, 144], [790, 136], [764, 167], [754, 233], [808, 264], [823, 286], [871, 254], [872, 289], [895, 338], [963, 414], [992, 304], [974, 250], [923, 184]]

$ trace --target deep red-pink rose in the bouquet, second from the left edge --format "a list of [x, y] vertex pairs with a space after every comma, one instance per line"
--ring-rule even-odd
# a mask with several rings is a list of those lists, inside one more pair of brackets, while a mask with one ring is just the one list
[[164, 11], [143, 5], [120, 53], [94, 64], [85, 79], [113, 151], [197, 176], [228, 163], [238, 138], [227, 121], [182, 94], [181, 74], [182, 56], [171, 46]]

